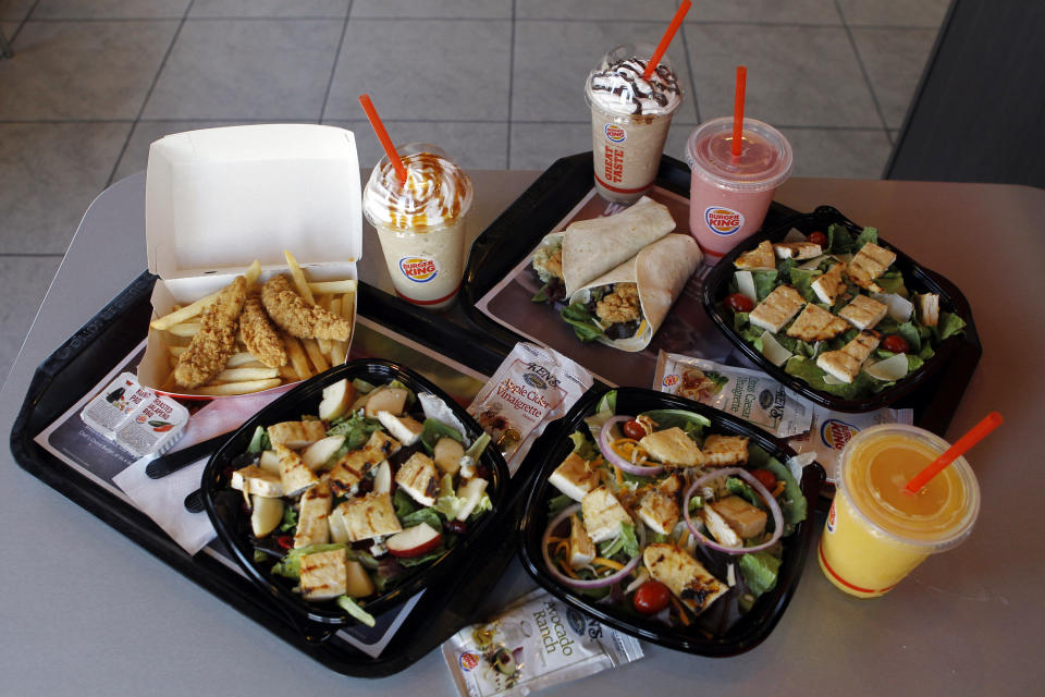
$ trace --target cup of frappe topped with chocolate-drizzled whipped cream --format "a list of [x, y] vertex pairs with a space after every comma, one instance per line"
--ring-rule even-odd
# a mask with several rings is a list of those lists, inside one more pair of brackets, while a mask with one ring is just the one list
[[[650, 189], [672, 117], [683, 103], [667, 56], [661, 58], [649, 81], [641, 80], [654, 49], [648, 44], [617, 46], [588, 74], [585, 84], [585, 98], [591, 107], [595, 189], [607, 200], [631, 203]], [[641, 60], [641, 66], [632, 59]]]

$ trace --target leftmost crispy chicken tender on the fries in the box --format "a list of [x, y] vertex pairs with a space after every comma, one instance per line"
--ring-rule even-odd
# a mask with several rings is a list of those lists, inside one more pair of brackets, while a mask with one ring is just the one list
[[193, 337], [188, 348], [179, 356], [174, 380], [184, 388], [197, 388], [225, 367], [225, 362], [236, 348], [236, 329], [239, 313], [247, 298], [247, 280], [237, 276], [222, 289], [216, 299], [204, 310], [200, 329]]

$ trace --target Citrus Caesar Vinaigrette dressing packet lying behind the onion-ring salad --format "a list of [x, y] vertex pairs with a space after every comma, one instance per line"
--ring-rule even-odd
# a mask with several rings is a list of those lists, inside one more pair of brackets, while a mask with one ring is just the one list
[[653, 389], [713, 406], [777, 438], [807, 432], [813, 404], [759, 370], [660, 352]]

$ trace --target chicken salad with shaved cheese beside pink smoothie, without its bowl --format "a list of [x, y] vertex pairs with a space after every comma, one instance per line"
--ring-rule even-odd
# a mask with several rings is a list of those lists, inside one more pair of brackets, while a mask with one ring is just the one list
[[826, 234], [791, 231], [734, 261], [720, 304], [734, 330], [771, 363], [811, 388], [865, 399], [919, 370], [963, 331], [939, 295], [907, 288], [896, 253], [877, 231], [832, 224]]

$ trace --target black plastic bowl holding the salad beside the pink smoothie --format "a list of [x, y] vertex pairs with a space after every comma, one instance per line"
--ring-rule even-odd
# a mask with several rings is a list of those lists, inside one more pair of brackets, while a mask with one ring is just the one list
[[847, 400], [834, 394], [828, 394], [812, 388], [803, 380], [788, 375], [784, 368], [773, 365], [761, 352], [743, 340], [733, 328], [733, 318], [727, 309], [723, 309], [722, 303], [729, 294], [729, 281], [733, 279], [735, 268], [734, 260], [750, 249], [753, 249], [763, 241], [780, 242], [787, 233], [794, 228], [803, 234], [814, 231], [826, 232], [832, 224], [846, 227], [853, 234], [859, 234], [862, 225], [852, 222], [837, 209], [831, 206], [821, 206], [811, 213], [804, 213], [788, 218], [780, 224], [769, 230], [761, 231], [741, 245], [726, 254], [718, 264], [711, 270], [704, 282], [702, 290], [702, 301], [704, 310], [711, 316], [712, 321], [718, 329], [739, 348], [743, 355], [751, 359], [762, 370], [773, 376], [774, 379], [784, 383], [795, 392], [798, 392], [806, 399], [837, 412], [870, 412], [884, 406], [889, 406], [912, 392], [932, 381], [932, 378], [959, 352], [973, 352], [975, 356], [980, 355], [980, 340], [976, 337], [975, 325], [972, 321], [972, 308], [966, 296], [961, 294], [950, 281], [944, 277], [917, 264], [911, 257], [903, 254], [896, 245], [888, 241], [878, 241], [896, 253], [896, 261], [893, 266], [903, 274], [903, 281], [908, 290], [918, 293], [936, 293], [939, 295], [941, 311], [956, 314], [966, 321], [966, 330], [962, 334], [948, 337], [936, 350], [932, 358], [913, 374], [898, 380], [896, 384], [887, 388], [877, 394], [862, 400]]

